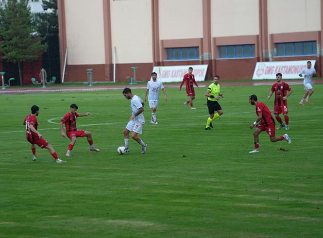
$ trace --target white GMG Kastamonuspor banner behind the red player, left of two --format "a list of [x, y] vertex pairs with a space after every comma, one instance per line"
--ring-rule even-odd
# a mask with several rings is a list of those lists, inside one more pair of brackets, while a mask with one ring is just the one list
[[157, 80], [162, 83], [182, 82], [188, 68], [193, 68], [195, 81], [204, 81], [208, 65], [183, 65], [183, 66], [155, 66], [153, 72], [157, 73]]

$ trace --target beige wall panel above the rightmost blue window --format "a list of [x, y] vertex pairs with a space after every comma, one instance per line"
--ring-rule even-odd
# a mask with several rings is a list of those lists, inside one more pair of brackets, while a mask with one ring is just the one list
[[268, 34], [321, 31], [320, 0], [268, 0]]

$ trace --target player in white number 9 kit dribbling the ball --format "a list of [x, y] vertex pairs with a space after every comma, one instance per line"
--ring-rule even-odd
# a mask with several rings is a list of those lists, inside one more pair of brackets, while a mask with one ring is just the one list
[[145, 153], [147, 144], [138, 136], [138, 134], [142, 134], [142, 127], [145, 124], [145, 118], [142, 113], [144, 111], [145, 102], [137, 95], [132, 94], [131, 89], [128, 87], [123, 89], [122, 94], [126, 99], [131, 99], [132, 112], [132, 116], [130, 117], [126, 128], [123, 130], [126, 152], [129, 152], [129, 133], [132, 131], [131, 137], [142, 146], [141, 153]]

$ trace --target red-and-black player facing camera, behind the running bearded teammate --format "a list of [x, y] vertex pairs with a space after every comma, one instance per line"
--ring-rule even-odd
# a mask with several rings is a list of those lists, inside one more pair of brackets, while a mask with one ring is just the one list
[[[283, 120], [279, 117], [279, 115], [283, 112], [286, 130], [289, 130], [289, 117], [288, 117], [288, 109], [287, 109], [287, 98], [293, 92], [289, 85], [282, 81], [283, 75], [281, 73], [276, 74], [277, 83], [272, 85], [272, 89], [269, 93], [268, 99], [272, 97], [273, 92], [275, 92], [275, 103], [273, 107], [273, 114], [275, 115], [276, 120], [279, 122], [279, 126], [277, 130], [280, 130], [285, 126]], [[289, 91], [288, 94], [287, 91]]]

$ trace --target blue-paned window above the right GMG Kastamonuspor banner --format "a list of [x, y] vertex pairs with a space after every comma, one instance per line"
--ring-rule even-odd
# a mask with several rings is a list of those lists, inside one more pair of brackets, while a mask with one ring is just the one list
[[277, 56], [317, 54], [316, 41], [276, 43]]

